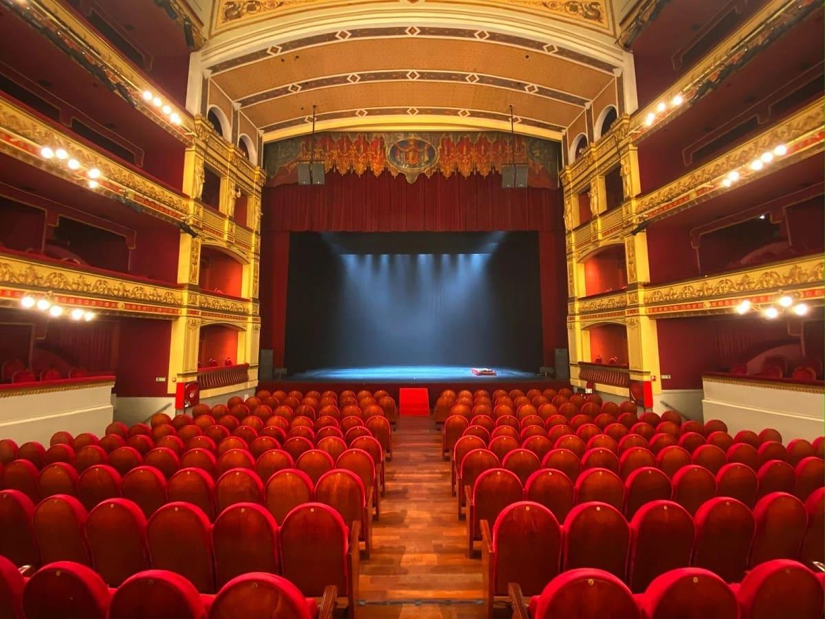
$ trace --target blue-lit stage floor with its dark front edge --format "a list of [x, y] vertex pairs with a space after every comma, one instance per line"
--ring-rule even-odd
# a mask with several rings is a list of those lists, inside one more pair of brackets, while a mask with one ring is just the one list
[[430, 404], [435, 405], [441, 390], [452, 389], [547, 389], [567, 386], [560, 380], [544, 378], [530, 371], [494, 367], [496, 376], [475, 376], [467, 366], [368, 366], [324, 367], [296, 372], [279, 380], [262, 380], [266, 390], [346, 389], [386, 390], [398, 399], [399, 387], [424, 387], [429, 390]]

